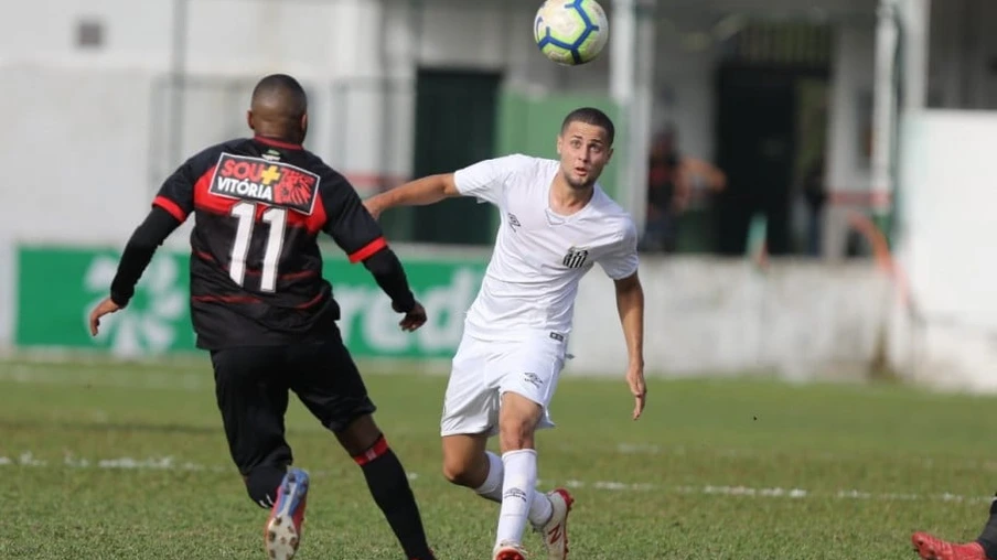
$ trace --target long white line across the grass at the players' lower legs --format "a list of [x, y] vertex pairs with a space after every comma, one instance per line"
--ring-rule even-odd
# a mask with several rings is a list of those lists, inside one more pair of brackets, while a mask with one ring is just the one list
[[[133, 459], [133, 457], [116, 457], [116, 459], [81, 459], [73, 455], [66, 455], [61, 462], [50, 462], [36, 459], [31, 452], [22, 453], [19, 456], [0, 455], [0, 467], [22, 467], [22, 469], [78, 469], [78, 470], [126, 470], [126, 471], [206, 471], [212, 473], [235, 473], [232, 466], [219, 465], [202, 465], [191, 462], [181, 462], [171, 456]], [[324, 477], [330, 473], [324, 471], [311, 472], [312, 476]], [[419, 478], [418, 473], [409, 473], [409, 480]], [[544, 481], [537, 481], [538, 485], [543, 485]], [[966, 496], [952, 493], [939, 494], [894, 494], [894, 493], [872, 493], [858, 489], [840, 489], [840, 491], [808, 491], [804, 488], [755, 488], [750, 486], [667, 486], [650, 483], [624, 483], [613, 481], [567, 481], [564, 485], [568, 488], [591, 488], [605, 492], [658, 492], [666, 494], [683, 495], [710, 495], [710, 496], [740, 496], [750, 498], [782, 498], [782, 499], [861, 499], [872, 502], [956, 502], [972, 504], [988, 504], [993, 496]]]

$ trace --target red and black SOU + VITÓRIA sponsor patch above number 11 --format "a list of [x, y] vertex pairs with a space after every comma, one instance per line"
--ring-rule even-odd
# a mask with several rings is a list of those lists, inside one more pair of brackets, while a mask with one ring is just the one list
[[319, 175], [294, 165], [248, 155], [223, 153], [208, 192], [240, 201], [261, 202], [311, 215]]

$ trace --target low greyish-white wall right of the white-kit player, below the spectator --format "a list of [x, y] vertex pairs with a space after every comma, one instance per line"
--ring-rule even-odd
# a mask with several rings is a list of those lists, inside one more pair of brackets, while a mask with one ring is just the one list
[[[889, 278], [867, 261], [643, 258], [646, 369], [672, 376], [855, 379], [883, 351]], [[613, 286], [582, 281], [568, 369], [622, 375], [626, 347]]]

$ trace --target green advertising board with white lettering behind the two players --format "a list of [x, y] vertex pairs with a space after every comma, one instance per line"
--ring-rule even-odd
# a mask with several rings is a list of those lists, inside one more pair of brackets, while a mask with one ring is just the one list
[[[101, 333], [90, 337], [87, 316], [107, 295], [119, 256], [101, 249], [20, 247], [17, 346], [97, 349], [120, 356], [195, 351], [189, 254], [165, 249], [152, 259], [128, 308], [106, 317]], [[485, 265], [483, 258], [406, 259], [412, 291], [429, 315], [416, 333], [398, 329], [400, 316], [362, 265], [328, 258], [324, 276], [342, 308], [343, 338], [356, 357], [440, 358], [457, 351], [464, 311], [478, 293]]]

